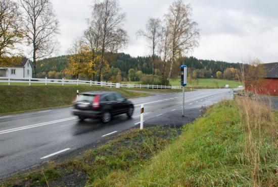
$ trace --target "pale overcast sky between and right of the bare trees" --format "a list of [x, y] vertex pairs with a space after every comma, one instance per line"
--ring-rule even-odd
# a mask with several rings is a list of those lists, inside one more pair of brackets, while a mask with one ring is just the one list
[[[86, 28], [92, 0], [53, 0], [60, 21], [60, 54]], [[125, 29], [129, 43], [123, 50], [131, 56], [149, 55], [138, 29], [145, 28], [150, 17], [161, 18], [172, 0], [119, 0], [126, 13]], [[259, 58], [264, 63], [278, 61], [278, 1], [275, 0], [184, 0], [193, 7], [192, 19], [199, 24], [200, 45], [192, 53], [197, 58], [247, 61]]]

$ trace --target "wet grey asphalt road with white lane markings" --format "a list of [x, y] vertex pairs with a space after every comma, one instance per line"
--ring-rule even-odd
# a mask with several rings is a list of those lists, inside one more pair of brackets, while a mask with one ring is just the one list
[[[186, 115], [194, 116], [202, 106], [229, 99], [229, 91], [207, 89], [186, 92]], [[79, 122], [71, 114], [71, 107], [1, 116], [0, 178], [136, 126], [140, 121], [142, 103], [145, 104], [146, 123], [188, 122], [179, 117], [182, 93], [154, 94], [130, 99], [135, 106], [133, 117], [115, 116], [108, 124], [91, 119]]]

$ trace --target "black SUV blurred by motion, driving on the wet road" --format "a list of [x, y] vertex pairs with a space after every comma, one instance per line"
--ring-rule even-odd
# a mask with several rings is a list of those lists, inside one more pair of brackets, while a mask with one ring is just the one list
[[126, 113], [131, 117], [133, 110], [132, 102], [117, 92], [85, 92], [77, 97], [72, 112], [81, 121], [86, 118], [100, 118], [107, 123], [114, 115]]

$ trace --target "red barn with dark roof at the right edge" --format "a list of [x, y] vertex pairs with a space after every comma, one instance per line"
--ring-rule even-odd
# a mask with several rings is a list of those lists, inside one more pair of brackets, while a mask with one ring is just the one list
[[278, 63], [263, 64], [266, 69], [263, 86], [257, 92], [258, 94], [278, 96]]

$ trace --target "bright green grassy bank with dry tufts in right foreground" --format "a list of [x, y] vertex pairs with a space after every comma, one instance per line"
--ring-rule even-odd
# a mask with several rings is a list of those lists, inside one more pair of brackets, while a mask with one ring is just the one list
[[257, 99], [221, 102], [127, 185], [277, 186], [277, 117]]

